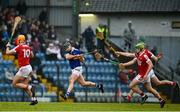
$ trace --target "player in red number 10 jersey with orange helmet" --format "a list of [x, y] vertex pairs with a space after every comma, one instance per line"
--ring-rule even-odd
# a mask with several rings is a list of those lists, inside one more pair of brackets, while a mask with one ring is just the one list
[[26, 45], [26, 39], [24, 35], [19, 35], [16, 40], [17, 46], [10, 49], [11, 44], [8, 42], [6, 45], [6, 54], [17, 54], [19, 70], [13, 78], [13, 87], [23, 89], [30, 97], [30, 105], [35, 105], [38, 103], [35, 97], [34, 86], [29, 84], [29, 78], [32, 73], [32, 67], [29, 63], [30, 58], [33, 57], [32, 49]]

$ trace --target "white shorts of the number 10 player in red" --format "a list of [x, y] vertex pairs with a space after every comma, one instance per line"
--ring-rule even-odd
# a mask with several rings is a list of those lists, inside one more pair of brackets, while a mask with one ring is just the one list
[[24, 77], [24, 78], [28, 78], [31, 72], [32, 72], [31, 65], [26, 65], [26, 66], [22, 66], [21, 68], [19, 68], [17, 75]]

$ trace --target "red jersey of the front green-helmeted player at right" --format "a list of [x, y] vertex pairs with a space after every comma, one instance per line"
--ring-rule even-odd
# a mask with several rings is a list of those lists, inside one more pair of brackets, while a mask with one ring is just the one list
[[148, 70], [148, 64], [147, 61], [149, 61], [149, 57], [146, 54], [146, 50], [144, 50], [142, 53], [140, 54], [135, 54], [136, 59], [137, 59], [137, 63], [138, 63], [138, 73], [141, 76], [141, 78], [144, 77], [144, 75], [146, 74], [147, 70]]

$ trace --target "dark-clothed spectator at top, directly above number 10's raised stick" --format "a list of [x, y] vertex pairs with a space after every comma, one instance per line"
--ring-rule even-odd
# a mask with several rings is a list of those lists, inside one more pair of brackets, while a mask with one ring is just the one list
[[16, 5], [16, 10], [19, 11], [19, 15], [25, 15], [27, 11], [27, 5], [25, 0], [19, 0], [18, 4]]

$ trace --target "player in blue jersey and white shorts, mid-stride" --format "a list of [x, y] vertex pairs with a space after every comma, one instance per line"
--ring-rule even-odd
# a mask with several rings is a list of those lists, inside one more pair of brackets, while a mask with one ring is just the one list
[[64, 49], [67, 52], [65, 54], [65, 58], [69, 60], [69, 64], [71, 67], [71, 75], [69, 77], [69, 87], [67, 89], [66, 94], [63, 96], [64, 99], [67, 99], [70, 95], [74, 87], [75, 81], [77, 81], [81, 86], [90, 86], [90, 87], [97, 87], [102, 93], [104, 92], [102, 84], [96, 84], [91, 81], [85, 81], [82, 75], [83, 69], [81, 66], [81, 62], [84, 61], [83, 53], [74, 47], [72, 47], [70, 42], [64, 43]]

